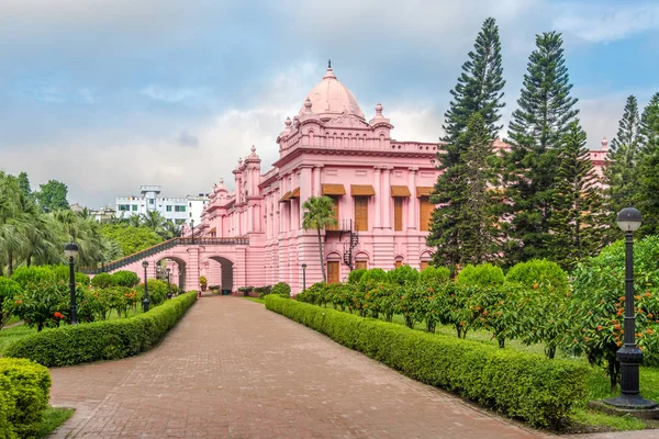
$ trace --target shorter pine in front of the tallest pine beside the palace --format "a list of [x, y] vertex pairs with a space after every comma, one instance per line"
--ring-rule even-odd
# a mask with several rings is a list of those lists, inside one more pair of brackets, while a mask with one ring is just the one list
[[[469, 120], [458, 139], [467, 145], [460, 160], [439, 176], [432, 202], [440, 204], [431, 221], [429, 246], [437, 264], [481, 263], [499, 251], [501, 198], [498, 158], [480, 113]], [[445, 158], [445, 156], [443, 156]]]

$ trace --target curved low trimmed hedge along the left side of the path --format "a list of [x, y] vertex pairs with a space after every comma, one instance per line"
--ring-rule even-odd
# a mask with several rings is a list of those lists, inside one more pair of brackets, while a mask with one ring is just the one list
[[10, 345], [5, 356], [47, 367], [135, 356], [155, 345], [196, 300], [191, 291], [135, 317], [43, 330]]

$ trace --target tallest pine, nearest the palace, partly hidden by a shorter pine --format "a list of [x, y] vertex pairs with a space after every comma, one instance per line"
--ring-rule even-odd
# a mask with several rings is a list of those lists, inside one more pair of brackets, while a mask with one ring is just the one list
[[467, 63], [462, 65], [458, 83], [450, 91], [453, 100], [445, 114], [443, 128], [446, 135], [442, 138], [447, 144], [444, 151], [437, 154], [437, 169], [442, 175], [435, 184], [432, 200], [443, 207], [433, 213], [427, 241], [428, 245], [437, 247], [434, 258], [440, 264], [456, 264], [461, 260], [459, 225], [460, 214], [467, 202], [463, 191], [463, 153], [470, 146], [465, 133], [469, 120], [474, 113], [480, 113], [490, 143], [502, 127], [498, 122], [501, 119], [500, 110], [504, 105], [501, 99], [505, 81], [499, 27], [493, 18], [483, 22], [474, 48], [469, 52], [468, 57]]

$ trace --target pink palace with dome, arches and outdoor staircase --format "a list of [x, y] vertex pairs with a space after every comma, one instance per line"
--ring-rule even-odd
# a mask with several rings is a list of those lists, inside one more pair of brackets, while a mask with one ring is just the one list
[[[306, 285], [322, 280], [317, 233], [302, 228], [302, 204], [321, 195], [333, 200], [338, 219], [322, 232], [328, 282], [343, 281], [357, 268], [425, 268], [432, 259], [428, 198], [439, 173], [434, 159], [440, 145], [393, 139], [382, 110], [378, 103], [367, 120], [327, 68], [298, 115], [287, 117], [271, 169], [263, 172], [253, 146], [233, 171], [235, 190], [223, 180], [215, 184], [201, 225], [185, 228], [183, 238], [111, 262], [105, 271], [163, 277], [159, 262], [168, 260], [172, 282], [185, 290], [199, 289], [205, 277], [208, 285], [225, 292], [287, 282], [297, 293], [304, 275]], [[507, 148], [499, 139], [493, 146]], [[607, 140], [590, 154], [601, 175]]]

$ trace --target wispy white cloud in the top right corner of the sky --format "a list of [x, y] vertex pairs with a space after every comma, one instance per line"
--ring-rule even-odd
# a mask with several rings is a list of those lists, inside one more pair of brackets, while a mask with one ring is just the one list
[[659, 30], [656, 1], [562, 2], [556, 7], [558, 31], [576, 34], [589, 43], [608, 43]]

